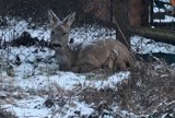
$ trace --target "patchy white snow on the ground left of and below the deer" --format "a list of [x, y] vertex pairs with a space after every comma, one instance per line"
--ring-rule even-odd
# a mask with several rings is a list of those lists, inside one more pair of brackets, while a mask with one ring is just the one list
[[[130, 74], [129, 72], [118, 72], [106, 79], [101, 79], [101, 76], [93, 73], [77, 74], [72, 72], [61, 72], [58, 70], [54, 59], [51, 63], [47, 62], [46, 59], [51, 56], [49, 49], [45, 49], [45, 52], [38, 51], [34, 54], [36, 49], [36, 47], [11, 47], [9, 50], [10, 54], [1, 50], [3, 56], [9, 56], [9, 61], [13, 64], [14, 70], [13, 76], [8, 75], [7, 71], [1, 71], [2, 90], [0, 96], [5, 96], [7, 101], [2, 102], [1, 105], [14, 111], [20, 118], [51, 117], [58, 109], [62, 110], [57, 115], [58, 118], [73, 116], [78, 109], [82, 115], [90, 115], [94, 111], [91, 105], [79, 102], [75, 96], [68, 98], [71, 105], [73, 104], [72, 106], [67, 103], [63, 107], [54, 106], [47, 108], [44, 103], [51, 93], [44, 93], [52, 92], [52, 95], [55, 95], [57, 94], [58, 87], [61, 87], [62, 91], [71, 91], [77, 88], [77, 85], [96, 88], [115, 87], [117, 82], [128, 79]], [[16, 56], [21, 59], [22, 63], [20, 66], [15, 64]], [[37, 61], [38, 58], [40, 59], [39, 62]], [[12, 87], [12, 90], [14, 88], [15, 91], [3, 91], [7, 87]], [[14, 96], [20, 98], [18, 99]]]

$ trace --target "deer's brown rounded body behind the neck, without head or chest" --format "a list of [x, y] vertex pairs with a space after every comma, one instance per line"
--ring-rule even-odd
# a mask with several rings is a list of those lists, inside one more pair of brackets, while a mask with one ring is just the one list
[[110, 70], [127, 70], [133, 64], [133, 58], [128, 48], [116, 39], [104, 39], [82, 48], [77, 66], [80, 72], [106, 67]]

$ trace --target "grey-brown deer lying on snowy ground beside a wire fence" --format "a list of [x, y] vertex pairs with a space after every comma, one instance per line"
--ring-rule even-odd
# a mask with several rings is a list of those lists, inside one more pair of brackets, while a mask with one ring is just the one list
[[55, 50], [55, 58], [60, 71], [78, 73], [101, 69], [125, 71], [133, 64], [132, 54], [118, 39], [106, 38], [85, 47], [79, 45], [77, 49], [70, 48], [70, 28], [75, 20], [75, 12], [60, 21], [56, 13], [48, 10], [48, 20], [51, 28], [49, 44]]

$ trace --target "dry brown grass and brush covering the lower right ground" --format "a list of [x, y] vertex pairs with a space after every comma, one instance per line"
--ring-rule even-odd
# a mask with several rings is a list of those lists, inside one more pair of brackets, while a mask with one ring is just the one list
[[91, 104], [97, 116], [104, 110], [112, 111], [113, 105], [136, 115], [165, 113], [174, 114], [175, 108], [175, 69], [164, 62], [139, 62], [132, 68], [131, 75], [115, 88], [85, 87], [80, 91], [80, 101]]

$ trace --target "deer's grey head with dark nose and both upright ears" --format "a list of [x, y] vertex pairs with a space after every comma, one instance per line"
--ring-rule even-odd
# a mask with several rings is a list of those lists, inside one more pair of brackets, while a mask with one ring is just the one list
[[51, 26], [50, 45], [55, 50], [61, 50], [68, 46], [70, 26], [74, 19], [75, 12], [60, 21], [51, 10], [48, 10], [48, 20]]

